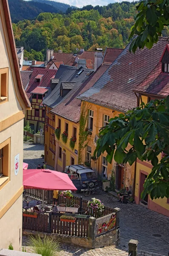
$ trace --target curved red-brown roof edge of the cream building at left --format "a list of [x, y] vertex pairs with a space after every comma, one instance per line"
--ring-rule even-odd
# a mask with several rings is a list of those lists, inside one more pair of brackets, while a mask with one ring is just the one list
[[17, 58], [17, 51], [16, 51], [16, 46], [15, 46], [15, 41], [14, 41], [14, 34], [13, 34], [13, 29], [12, 29], [12, 24], [11, 24], [11, 16], [9, 12], [9, 5], [7, 0], [2, 0], [3, 4], [3, 12], [5, 16], [5, 21], [6, 21], [6, 28], [8, 32], [8, 37], [9, 37], [9, 44], [11, 47], [11, 55], [14, 63], [14, 69], [15, 69], [15, 75], [17, 79], [17, 86], [20, 92], [20, 96], [23, 99], [23, 102], [26, 106], [26, 108], [31, 107], [31, 103], [29, 102], [29, 99], [26, 96], [25, 90], [23, 88], [21, 76], [20, 76], [20, 67], [18, 63], [18, 58]]

